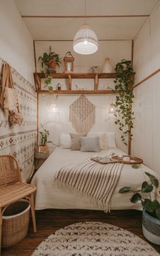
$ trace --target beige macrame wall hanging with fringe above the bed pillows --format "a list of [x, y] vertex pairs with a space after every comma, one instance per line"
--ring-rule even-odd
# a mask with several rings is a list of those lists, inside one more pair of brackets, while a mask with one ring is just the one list
[[95, 106], [81, 94], [70, 106], [69, 121], [76, 132], [89, 132], [95, 122]]

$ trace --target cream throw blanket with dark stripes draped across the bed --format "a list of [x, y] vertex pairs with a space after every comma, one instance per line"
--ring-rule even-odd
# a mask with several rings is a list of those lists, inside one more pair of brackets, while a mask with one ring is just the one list
[[109, 201], [119, 181], [123, 164], [99, 164], [86, 160], [58, 170], [54, 183], [108, 212]]

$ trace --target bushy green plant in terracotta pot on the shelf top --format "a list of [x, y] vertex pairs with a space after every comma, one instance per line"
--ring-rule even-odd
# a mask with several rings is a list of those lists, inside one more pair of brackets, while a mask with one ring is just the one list
[[41, 60], [41, 67], [45, 65], [47, 67], [47, 73], [56, 73], [56, 66], [60, 67], [60, 58], [59, 54], [56, 52], [47, 52], [43, 53], [43, 56], [39, 56], [39, 60]]

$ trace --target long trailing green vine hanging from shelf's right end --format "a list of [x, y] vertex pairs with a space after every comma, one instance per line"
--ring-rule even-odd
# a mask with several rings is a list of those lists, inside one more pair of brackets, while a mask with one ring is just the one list
[[121, 139], [127, 145], [127, 137], [132, 139], [131, 129], [134, 127], [134, 112], [132, 112], [132, 103], [134, 98], [132, 73], [134, 69], [130, 60], [121, 60], [115, 67], [115, 124], [123, 133]]

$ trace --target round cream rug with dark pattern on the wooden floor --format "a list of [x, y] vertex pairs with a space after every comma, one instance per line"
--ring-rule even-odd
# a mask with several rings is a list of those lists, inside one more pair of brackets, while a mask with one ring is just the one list
[[151, 245], [115, 225], [68, 225], [45, 239], [32, 256], [158, 256]]

